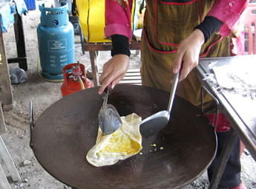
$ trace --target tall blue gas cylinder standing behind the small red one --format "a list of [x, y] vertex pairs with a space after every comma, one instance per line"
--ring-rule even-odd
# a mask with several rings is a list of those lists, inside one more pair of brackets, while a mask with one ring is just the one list
[[62, 80], [62, 68], [75, 62], [73, 24], [68, 19], [67, 8], [68, 4], [61, 7], [39, 5], [39, 57], [42, 76], [50, 80]]

